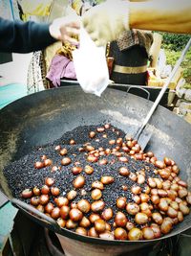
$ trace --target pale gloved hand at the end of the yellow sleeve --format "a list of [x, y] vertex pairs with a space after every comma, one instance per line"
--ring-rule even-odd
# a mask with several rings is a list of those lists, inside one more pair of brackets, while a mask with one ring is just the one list
[[82, 24], [97, 46], [129, 30], [129, 1], [107, 0], [82, 16]]

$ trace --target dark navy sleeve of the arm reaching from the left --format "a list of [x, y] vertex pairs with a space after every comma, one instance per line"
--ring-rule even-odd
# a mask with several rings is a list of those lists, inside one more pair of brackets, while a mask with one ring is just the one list
[[0, 52], [30, 53], [55, 41], [50, 35], [49, 24], [10, 21], [0, 17]]

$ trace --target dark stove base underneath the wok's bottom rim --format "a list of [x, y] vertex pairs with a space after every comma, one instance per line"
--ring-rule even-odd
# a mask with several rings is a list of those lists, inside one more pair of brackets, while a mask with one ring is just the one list
[[[2, 255], [14, 256], [190, 256], [191, 229], [155, 245], [127, 251], [119, 246], [85, 244], [53, 233], [18, 211]], [[65, 251], [65, 253], [64, 253]], [[125, 252], [126, 251], [126, 252]], [[188, 254], [187, 254], [188, 252]]]

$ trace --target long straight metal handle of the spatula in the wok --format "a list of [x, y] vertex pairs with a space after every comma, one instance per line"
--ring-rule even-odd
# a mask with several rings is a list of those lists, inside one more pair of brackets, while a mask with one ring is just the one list
[[156, 99], [155, 103], [152, 105], [150, 111], [148, 112], [146, 118], [144, 119], [141, 127], [138, 129], [138, 133], [136, 134], [135, 138], [138, 140], [140, 133], [142, 132], [143, 128], [145, 128], [145, 126], [147, 125], [147, 123], [149, 122], [151, 116], [153, 115], [154, 111], [156, 110], [157, 106], [159, 105], [159, 102], [162, 98], [162, 96], [164, 95], [166, 89], [168, 88], [170, 82], [172, 81], [172, 79], [174, 78], [175, 74], [177, 73], [179, 67], [180, 67], [180, 63], [183, 60], [183, 58], [185, 57], [187, 51], [189, 50], [191, 46], [191, 38], [189, 39], [189, 41], [187, 42], [185, 48], [183, 49], [183, 51], [181, 52], [180, 58], [178, 59], [176, 65], [174, 66], [169, 78], [167, 81], [165, 81], [162, 89], [159, 92], [158, 98]]

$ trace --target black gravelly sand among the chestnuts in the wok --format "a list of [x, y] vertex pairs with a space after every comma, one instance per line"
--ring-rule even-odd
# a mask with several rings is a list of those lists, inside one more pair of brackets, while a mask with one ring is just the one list
[[[142, 188], [142, 191], [147, 185], [146, 180], [148, 176], [157, 177], [158, 175], [155, 175], [153, 173], [153, 171], [155, 170], [154, 165], [145, 161], [135, 160], [127, 155], [124, 151], [122, 151], [122, 149], [120, 149], [119, 151], [123, 152], [124, 156], [128, 157], [128, 163], [123, 163], [119, 161], [118, 157], [114, 154], [99, 156], [99, 160], [102, 158], [108, 160], [108, 163], [106, 165], [99, 165], [98, 162], [87, 162], [87, 151], [78, 151], [78, 149], [80, 147], [83, 147], [85, 143], [91, 143], [91, 145], [95, 147], [96, 150], [99, 147], [102, 147], [104, 148], [104, 150], [106, 150], [113, 149], [117, 146], [117, 144], [110, 145], [108, 143], [110, 140], [117, 140], [117, 138], [121, 137], [123, 138], [123, 141], [125, 141], [125, 133], [122, 130], [111, 126], [110, 128], [105, 128], [103, 132], [97, 132], [97, 127], [102, 126], [99, 125], [75, 128], [74, 130], [63, 134], [63, 136], [60, 139], [54, 141], [53, 144], [49, 144], [43, 147], [39, 145], [39, 147], [33, 149], [30, 154], [26, 155], [25, 157], [21, 158], [16, 162], [11, 163], [11, 165], [4, 170], [4, 174], [9, 182], [13, 197], [29, 202], [29, 199], [26, 200], [21, 197], [22, 191], [27, 188], [32, 189], [34, 186], [41, 188], [42, 185], [45, 184], [45, 178], [48, 176], [55, 179], [55, 183], [53, 186], [56, 186], [60, 189], [60, 196], [65, 196], [69, 191], [74, 189], [73, 180], [76, 175], [73, 175], [72, 168], [75, 166], [74, 163], [78, 161], [80, 163], [78, 166], [84, 168], [86, 165], [90, 165], [94, 168], [95, 172], [92, 175], [86, 175], [84, 171], [81, 172], [80, 175], [84, 175], [86, 180], [85, 185], [82, 188], [86, 191], [86, 195], [81, 196], [81, 189], [76, 189], [77, 197], [74, 198], [74, 201], [77, 202], [80, 198], [86, 198], [89, 200], [90, 203], [93, 202], [93, 199], [91, 198], [92, 183], [96, 180], [100, 180], [101, 176], [103, 175], [111, 175], [115, 178], [115, 181], [112, 184], [104, 185], [102, 199], [105, 202], [105, 208], [113, 208], [115, 216], [118, 210], [116, 206], [117, 198], [126, 197], [128, 202], [133, 201], [130, 189], [132, 185], [136, 183], [128, 177], [119, 175], [119, 167], [126, 166], [132, 173], [136, 173], [142, 169], [145, 170], [145, 183], [139, 185]], [[91, 139], [89, 137], [89, 132], [93, 130], [96, 131], [96, 136]], [[107, 134], [107, 138], [104, 138], [103, 134]], [[70, 145], [71, 139], [74, 139], [74, 145]], [[61, 148], [66, 148], [68, 150], [66, 156], [69, 156], [72, 159], [72, 163], [70, 165], [61, 165], [61, 159], [63, 158], [63, 156], [59, 154], [59, 151], [55, 151], [54, 148], [57, 145], [60, 145]], [[53, 165], [39, 170], [35, 169], [34, 163], [36, 161], [40, 161], [40, 156], [42, 156], [43, 154], [45, 154], [47, 158], [52, 159]], [[115, 163], [113, 163], [114, 159], [116, 160]], [[53, 166], [61, 167], [61, 170], [52, 172]], [[128, 190], [124, 191], [122, 189], [122, 185], [126, 185], [128, 187]], [[51, 200], [53, 201], [53, 198], [51, 198]], [[126, 211], [125, 213], [127, 214]], [[130, 221], [133, 221], [134, 219], [131, 216], [128, 216], [128, 218]]]

